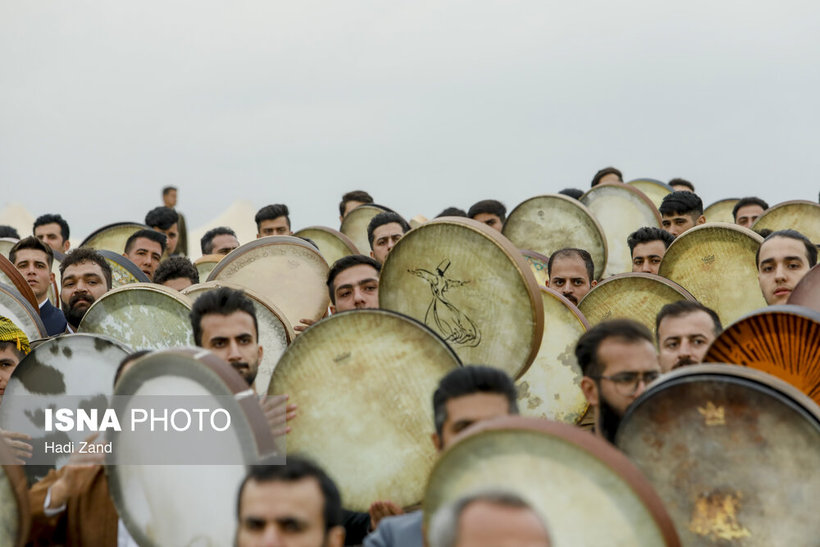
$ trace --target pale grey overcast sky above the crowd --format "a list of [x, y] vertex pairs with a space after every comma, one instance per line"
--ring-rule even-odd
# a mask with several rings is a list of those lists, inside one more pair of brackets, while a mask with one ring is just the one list
[[338, 226], [626, 179], [816, 200], [816, 1], [0, 0], [0, 207]]

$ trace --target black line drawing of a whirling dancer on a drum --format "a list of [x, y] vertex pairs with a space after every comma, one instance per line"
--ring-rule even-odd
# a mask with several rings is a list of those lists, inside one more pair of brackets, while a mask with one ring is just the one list
[[424, 314], [424, 324], [439, 333], [444, 340], [461, 346], [474, 348], [481, 343], [481, 331], [476, 324], [448, 299], [447, 291], [461, 287], [469, 281], [459, 281], [445, 277], [450, 267], [450, 259], [445, 258], [436, 266], [435, 272], [419, 268], [407, 270], [430, 284], [433, 300]]

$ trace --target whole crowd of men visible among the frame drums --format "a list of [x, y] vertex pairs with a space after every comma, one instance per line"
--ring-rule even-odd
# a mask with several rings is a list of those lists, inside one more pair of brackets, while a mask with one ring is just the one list
[[[596, 173], [592, 186], [613, 182], [623, 182], [622, 174], [606, 168]], [[684, 179], [673, 179], [670, 185], [674, 191], [659, 207], [662, 228], [643, 227], [628, 238], [633, 272], [657, 274], [674, 239], [706, 222], [694, 185]], [[575, 189], [562, 193], [575, 198], [580, 195]], [[186, 256], [184, 217], [175, 209], [177, 189], [164, 189], [163, 200], [163, 206], [146, 214], [147, 228], [128, 238], [121, 252], [149, 280], [183, 290], [199, 283], [199, 274]], [[372, 203], [366, 192], [345, 194], [339, 204], [339, 220], [357, 206]], [[733, 217], [736, 224], [750, 227], [767, 209], [765, 201], [748, 197], [738, 201]], [[466, 212], [449, 207], [439, 216], [472, 218], [500, 232], [506, 212], [502, 203], [483, 200]], [[255, 222], [257, 238], [293, 235], [286, 205], [260, 208]], [[379, 306], [382, 264], [409, 230], [409, 223], [388, 209], [372, 218], [367, 227], [369, 256], [346, 256], [330, 267], [330, 314]], [[9, 254], [39, 303], [49, 336], [76, 332], [85, 312], [112, 288], [108, 260], [91, 249], [71, 249], [69, 235], [68, 223], [59, 214], [42, 215], [35, 221], [32, 235], [18, 236]], [[794, 230], [763, 235], [755, 258], [760, 290], [767, 304], [785, 303], [816, 264], [816, 242]], [[202, 237], [200, 250], [202, 255], [224, 256], [241, 243], [231, 227], [220, 226]], [[59, 307], [49, 300], [55, 256], [60, 258]], [[555, 251], [549, 257], [547, 279], [548, 287], [577, 305], [596, 286], [590, 253], [578, 248]], [[195, 343], [227, 361], [252, 386], [264, 348], [259, 343], [251, 300], [241, 291], [227, 288], [207, 292], [196, 300], [191, 324]], [[303, 319], [295, 329], [302, 332], [311, 324]], [[594, 434], [613, 441], [621, 418], [646, 386], [675, 368], [702, 362], [722, 330], [714, 310], [690, 301], [664, 306], [655, 327], [653, 335], [636, 321], [615, 319], [590, 328], [577, 341], [575, 356], [583, 373], [580, 386], [594, 418]], [[25, 334], [8, 319], [0, 320], [0, 402], [9, 377], [28, 351]], [[115, 382], [144, 353], [126, 359]], [[439, 452], [475, 422], [518, 413], [513, 379], [486, 366], [459, 368], [442, 378], [431, 396], [435, 416], [432, 439]], [[293, 427], [292, 420], [298, 420], [299, 409], [285, 397], [263, 397], [260, 404], [273, 430], [287, 431]], [[19, 461], [30, 457], [32, 447], [25, 436], [14, 432], [3, 432], [3, 436]], [[32, 486], [31, 540], [35, 544], [127, 545], [133, 541], [108, 496], [101, 464], [101, 455], [74, 455], [69, 465]], [[316, 464], [297, 456], [289, 457], [284, 466], [262, 462], [250, 469], [237, 489], [236, 543], [422, 545], [421, 511], [404, 513], [390, 500], [374, 500], [368, 513], [355, 513], [344, 510], [342, 502], [333, 480]], [[91, 507], [97, 513], [91, 514]], [[525, 500], [515, 492], [495, 489], [443, 507], [432, 516], [427, 534], [431, 546], [499, 545], [499, 538], [514, 540], [511, 545], [550, 543], [543, 518]]]

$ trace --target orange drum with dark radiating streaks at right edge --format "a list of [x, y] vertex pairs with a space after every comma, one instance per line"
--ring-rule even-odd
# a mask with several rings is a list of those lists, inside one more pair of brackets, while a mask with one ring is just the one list
[[820, 312], [768, 306], [735, 321], [712, 342], [704, 361], [762, 370], [820, 403]]

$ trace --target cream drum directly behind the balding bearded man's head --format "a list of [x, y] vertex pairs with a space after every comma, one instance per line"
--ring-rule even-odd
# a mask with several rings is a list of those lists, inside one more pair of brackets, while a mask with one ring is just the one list
[[584, 249], [592, 255], [595, 279], [600, 279], [606, 268], [604, 230], [592, 211], [576, 199], [560, 194], [530, 198], [513, 209], [503, 233], [517, 247], [547, 258], [567, 247]]

